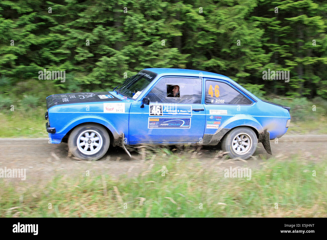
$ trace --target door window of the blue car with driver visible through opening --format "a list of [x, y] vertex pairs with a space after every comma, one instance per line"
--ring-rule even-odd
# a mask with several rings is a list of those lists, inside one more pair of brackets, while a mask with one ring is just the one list
[[164, 77], [147, 94], [150, 102], [201, 104], [202, 79]]

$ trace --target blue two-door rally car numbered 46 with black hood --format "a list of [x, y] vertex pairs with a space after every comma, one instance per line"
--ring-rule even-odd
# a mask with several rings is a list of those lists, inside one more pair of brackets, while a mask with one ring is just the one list
[[[101, 158], [110, 145], [217, 145], [231, 158], [248, 159], [261, 142], [283, 136], [289, 107], [263, 101], [232, 79], [211, 72], [149, 68], [111, 92], [46, 98], [51, 143], [68, 142], [84, 160]], [[126, 150], [126, 152], [128, 152]]]

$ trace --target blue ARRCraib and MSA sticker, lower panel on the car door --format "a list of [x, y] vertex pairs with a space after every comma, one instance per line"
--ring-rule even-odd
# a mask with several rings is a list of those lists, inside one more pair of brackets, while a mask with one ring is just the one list
[[147, 128], [190, 128], [191, 118], [149, 118]]

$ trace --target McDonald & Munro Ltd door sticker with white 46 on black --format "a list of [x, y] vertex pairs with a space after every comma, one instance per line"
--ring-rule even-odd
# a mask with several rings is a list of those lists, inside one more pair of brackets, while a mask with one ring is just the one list
[[176, 104], [150, 104], [150, 116], [192, 116], [192, 106]]

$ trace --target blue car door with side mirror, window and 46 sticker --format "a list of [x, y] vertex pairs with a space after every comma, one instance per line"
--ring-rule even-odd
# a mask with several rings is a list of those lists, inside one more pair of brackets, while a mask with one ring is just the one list
[[[174, 95], [173, 88], [178, 86]], [[175, 87], [175, 91], [176, 91]], [[146, 95], [150, 104], [134, 102], [129, 114], [129, 142], [198, 142], [204, 134], [202, 79], [162, 77]]]

